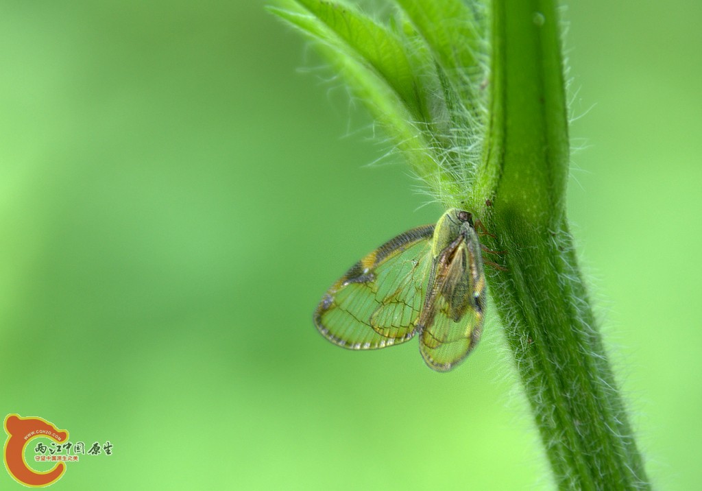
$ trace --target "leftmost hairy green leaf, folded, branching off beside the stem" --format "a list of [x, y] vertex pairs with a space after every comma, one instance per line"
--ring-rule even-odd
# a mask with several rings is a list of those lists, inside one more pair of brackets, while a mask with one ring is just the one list
[[441, 90], [436, 65], [416, 33], [404, 25], [400, 36], [340, 4], [319, 0], [283, 4], [285, 8], [270, 10], [320, 41], [416, 174], [437, 194], [444, 190], [455, 194], [456, 175], [441, 171], [440, 164], [450, 162], [444, 155], [446, 145], [437, 143], [445, 140], [451, 122], [438, 117], [446, 110], [444, 100], [436, 97]]

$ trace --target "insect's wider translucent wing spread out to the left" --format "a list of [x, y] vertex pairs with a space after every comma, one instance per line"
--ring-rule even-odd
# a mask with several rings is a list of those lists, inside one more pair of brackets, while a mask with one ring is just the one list
[[355, 350], [410, 339], [425, 301], [433, 232], [434, 225], [408, 230], [352, 266], [314, 311], [319, 332]]

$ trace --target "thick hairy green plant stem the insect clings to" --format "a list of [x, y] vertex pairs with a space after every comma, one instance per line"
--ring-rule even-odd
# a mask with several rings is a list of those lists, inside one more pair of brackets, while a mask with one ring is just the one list
[[[567, 114], [556, 5], [494, 0], [487, 158], [490, 278], [519, 376], [562, 489], [647, 488], [564, 211]], [[473, 200], [477, 199], [474, 195]]]

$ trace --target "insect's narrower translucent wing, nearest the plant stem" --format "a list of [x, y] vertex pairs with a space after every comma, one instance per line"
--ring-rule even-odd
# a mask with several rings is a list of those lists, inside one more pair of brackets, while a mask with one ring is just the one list
[[424, 361], [447, 372], [475, 348], [482, 334], [485, 277], [472, 228], [435, 258], [429, 293], [418, 321]]

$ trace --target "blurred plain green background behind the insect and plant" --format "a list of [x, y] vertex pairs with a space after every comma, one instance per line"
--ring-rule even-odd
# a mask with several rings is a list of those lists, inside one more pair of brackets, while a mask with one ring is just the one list
[[[442, 210], [364, 166], [360, 104], [262, 5], [0, 4], [0, 415], [112, 442], [55, 490], [550, 489], [497, 322], [449, 374], [315, 331], [329, 284]], [[668, 490], [702, 483], [701, 14], [565, 14], [574, 234]]]

